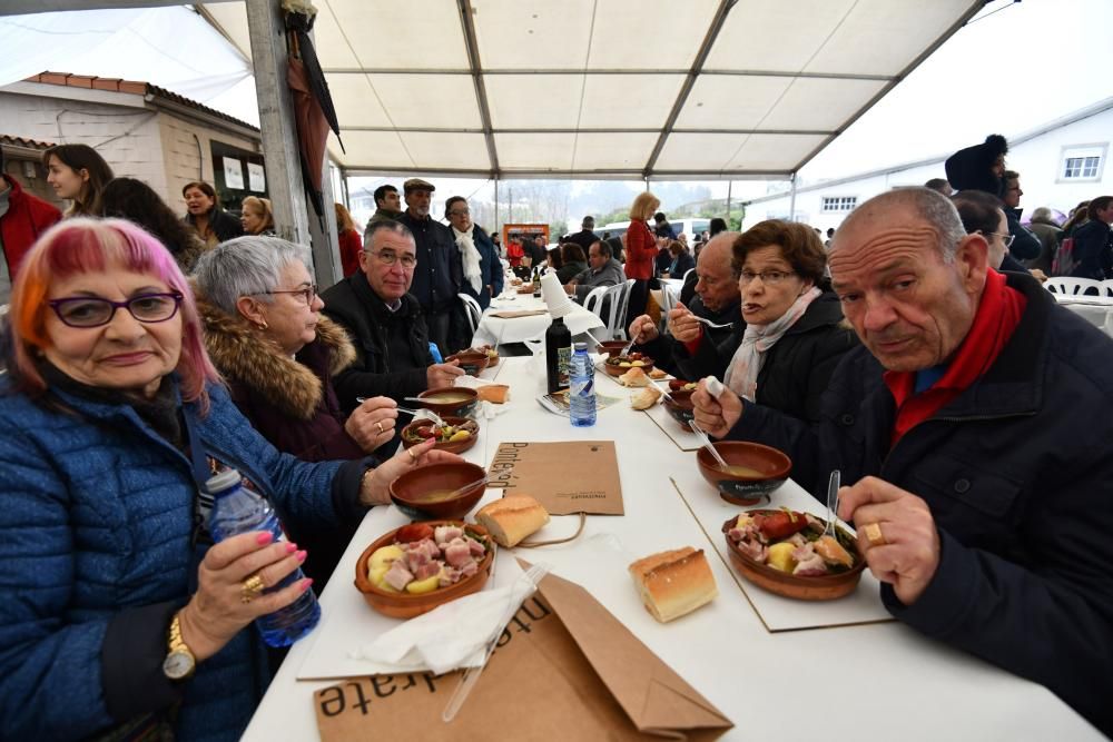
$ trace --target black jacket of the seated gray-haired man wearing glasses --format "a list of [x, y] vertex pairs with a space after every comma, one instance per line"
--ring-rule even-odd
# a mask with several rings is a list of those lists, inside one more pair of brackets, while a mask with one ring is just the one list
[[[402, 297], [402, 308], [392, 313], [367, 283], [355, 273], [321, 295], [324, 313], [347, 329], [356, 359], [333, 377], [333, 387], [345, 412], [356, 407], [356, 397], [386, 396], [394, 400], [424, 392], [425, 369], [433, 363], [429, 352], [425, 317], [411, 294]], [[408, 354], [391, 355], [391, 338], [405, 334]]]

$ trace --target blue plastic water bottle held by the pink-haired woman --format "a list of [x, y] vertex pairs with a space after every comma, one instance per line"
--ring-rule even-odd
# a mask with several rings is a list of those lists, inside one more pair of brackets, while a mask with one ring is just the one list
[[[276, 542], [285, 540], [282, 525], [270, 504], [254, 492], [245, 489], [236, 469], [220, 472], [210, 477], [205, 483], [205, 488], [215, 498], [213, 512], [209, 514], [209, 532], [214, 541], [220, 542], [252, 531], [266, 531]], [[282, 590], [304, 578], [305, 575], [298, 567], [277, 585], [267, 587], [265, 592]], [[289, 646], [313, 631], [318, 621], [321, 621], [321, 605], [313, 591], [307, 590], [286, 607], [256, 619], [255, 625], [263, 634], [263, 641], [270, 646]]]

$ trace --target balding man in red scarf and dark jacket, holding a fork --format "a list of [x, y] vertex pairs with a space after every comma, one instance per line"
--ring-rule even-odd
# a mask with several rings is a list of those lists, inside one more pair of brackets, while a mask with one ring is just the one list
[[[825, 493], [899, 621], [1041, 683], [1113, 734], [1113, 343], [927, 188], [839, 226], [831, 283], [861, 340], [818, 422], [692, 395], [716, 437], [775, 446]], [[1080, 426], [1085, 429], [1081, 431]]]

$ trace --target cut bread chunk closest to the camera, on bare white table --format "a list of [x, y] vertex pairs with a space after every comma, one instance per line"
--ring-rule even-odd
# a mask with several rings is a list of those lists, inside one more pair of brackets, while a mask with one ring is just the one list
[[719, 594], [703, 551], [691, 546], [638, 560], [630, 574], [646, 610], [661, 623], [691, 613]]

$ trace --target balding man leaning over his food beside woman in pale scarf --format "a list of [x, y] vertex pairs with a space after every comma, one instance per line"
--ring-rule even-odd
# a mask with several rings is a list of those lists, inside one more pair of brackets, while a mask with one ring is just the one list
[[[630, 323], [630, 337], [664, 370], [680, 378], [721, 378], [746, 333], [738, 278], [730, 265], [737, 231], [722, 231], [700, 250], [696, 261], [696, 294], [688, 306], [669, 311], [668, 335], [661, 335], [649, 315]], [[697, 317], [721, 327], [705, 326]]]

